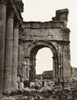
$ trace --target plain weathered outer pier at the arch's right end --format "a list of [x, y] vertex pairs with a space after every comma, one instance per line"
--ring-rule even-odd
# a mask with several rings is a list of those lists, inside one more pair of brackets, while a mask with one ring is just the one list
[[69, 43], [63, 45], [63, 81], [69, 83], [71, 77]]

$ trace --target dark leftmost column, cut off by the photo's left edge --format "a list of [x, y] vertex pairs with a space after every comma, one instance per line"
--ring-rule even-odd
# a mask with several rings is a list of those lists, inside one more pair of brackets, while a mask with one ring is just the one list
[[6, 4], [0, 1], [0, 100], [3, 93], [3, 70], [6, 29]]

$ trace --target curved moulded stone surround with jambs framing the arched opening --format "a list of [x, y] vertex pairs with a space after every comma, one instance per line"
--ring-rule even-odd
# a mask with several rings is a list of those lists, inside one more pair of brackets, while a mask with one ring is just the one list
[[[25, 43], [26, 44], [26, 43]], [[53, 52], [53, 61], [54, 61], [54, 68], [56, 72], [54, 72], [54, 78], [58, 76], [58, 55], [57, 55], [57, 50], [54, 47], [54, 45], [48, 41], [35, 41], [35, 42], [29, 42], [27, 45], [25, 45], [25, 50], [24, 50], [24, 60], [23, 63], [25, 63], [23, 66], [23, 71], [25, 70], [25, 68], [29, 68], [29, 73], [28, 75], [28, 80], [33, 81], [35, 79], [36, 76], [36, 54], [38, 52], [39, 49], [44, 48], [44, 47], [48, 47], [51, 49], [51, 51]], [[20, 56], [20, 61], [21, 61], [21, 56]], [[27, 65], [27, 62], [29, 62]], [[26, 66], [26, 67], [25, 67]], [[40, 69], [41, 70], [41, 69]], [[22, 73], [23, 73], [22, 71]], [[22, 74], [21, 74], [22, 75]], [[26, 77], [26, 71], [23, 73], [22, 75], [23, 77]]]

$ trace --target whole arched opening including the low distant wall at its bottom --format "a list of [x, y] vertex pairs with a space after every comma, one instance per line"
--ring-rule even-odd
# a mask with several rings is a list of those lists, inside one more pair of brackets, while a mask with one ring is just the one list
[[36, 79], [53, 80], [53, 53], [48, 47], [39, 49], [36, 54]]

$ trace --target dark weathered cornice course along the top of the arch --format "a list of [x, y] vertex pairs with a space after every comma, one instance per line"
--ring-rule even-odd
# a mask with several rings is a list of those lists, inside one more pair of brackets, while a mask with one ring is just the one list
[[64, 27], [64, 23], [61, 21], [24, 22], [23, 27], [24, 29], [60, 29]]

